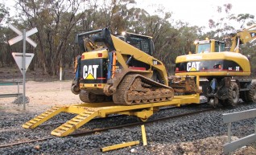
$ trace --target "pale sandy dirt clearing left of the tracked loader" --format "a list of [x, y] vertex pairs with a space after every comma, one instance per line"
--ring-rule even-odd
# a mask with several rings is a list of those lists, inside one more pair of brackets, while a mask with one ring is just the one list
[[[47, 108], [60, 104], [80, 104], [79, 96], [70, 91], [72, 81], [35, 82], [27, 81], [26, 96], [29, 103], [26, 104], [26, 111], [23, 111], [23, 102], [13, 104], [15, 97], [0, 99], [0, 112], [43, 112]], [[17, 86], [0, 86], [0, 94], [16, 93]], [[23, 86], [19, 87], [23, 93]], [[21, 100], [22, 101], [22, 100]]]

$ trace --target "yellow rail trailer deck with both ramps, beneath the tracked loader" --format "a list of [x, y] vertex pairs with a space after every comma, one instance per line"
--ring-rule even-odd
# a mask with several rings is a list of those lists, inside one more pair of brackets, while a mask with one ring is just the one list
[[70, 104], [64, 106], [56, 106], [48, 109], [39, 116], [27, 121], [23, 124], [23, 128], [35, 128], [39, 124], [56, 116], [60, 112], [68, 112], [77, 114], [71, 120], [61, 124], [58, 128], [52, 131], [52, 135], [57, 137], [64, 137], [74, 132], [76, 128], [93, 120], [95, 117], [106, 117], [110, 114], [123, 114], [128, 116], [138, 116], [143, 121], [146, 121], [151, 115], [159, 111], [160, 107], [177, 106], [181, 104], [199, 104], [200, 94], [189, 96], [175, 96], [173, 100], [166, 102], [157, 102], [151, 104], [137, 104], [137, 105], [115, 105], [114, 103], [93, 103], [93, 104]]

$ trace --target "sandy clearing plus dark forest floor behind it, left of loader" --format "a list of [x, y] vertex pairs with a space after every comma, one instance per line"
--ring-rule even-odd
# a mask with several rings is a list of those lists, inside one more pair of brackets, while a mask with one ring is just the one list
[[[29, 103], [26, 104], [25, 112], [43, 112], [56, 104], [79, 104], [79, 96], [70, 91], [72, 78], [74, 77], [72, 67], [64, 67], [64, 80], [60, 81], [58, 75], [44, 75], [41, 68], [26, 72], [26, 96]], [[11, 67], [0, 67], [0, 82], [19, 81], [23, 82], [23, 75], [19, 67], [14, 64]], [[0, 94], [17, 93], [17, 86], [0, 86]], [[23, 93], [23, 85], [19, 86], [19, 92]], [[20, 105], [17, 101], [21, 101]], [[0, 112], [24, 112], [23, 100], [15, 97], [0, 98]], [[15, 104], [13, 104], [13, 102]]]

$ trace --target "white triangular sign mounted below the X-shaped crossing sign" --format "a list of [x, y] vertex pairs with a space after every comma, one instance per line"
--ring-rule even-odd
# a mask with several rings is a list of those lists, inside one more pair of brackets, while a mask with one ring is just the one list
[[[23, 53], [12, 52], [11, 54], [14, 57], [14, 60], [19, 67], [19, 70], [23, 74]], [[27, 68], [28, 68], [29, 64], [31, 63], [31, 60], [33, 59], [34, 55], [35, 55], [34, 53], [26, 53], [26, 55], [25, 55], [25, 59], [26, 59], [25, 72], [27, 71]]]

